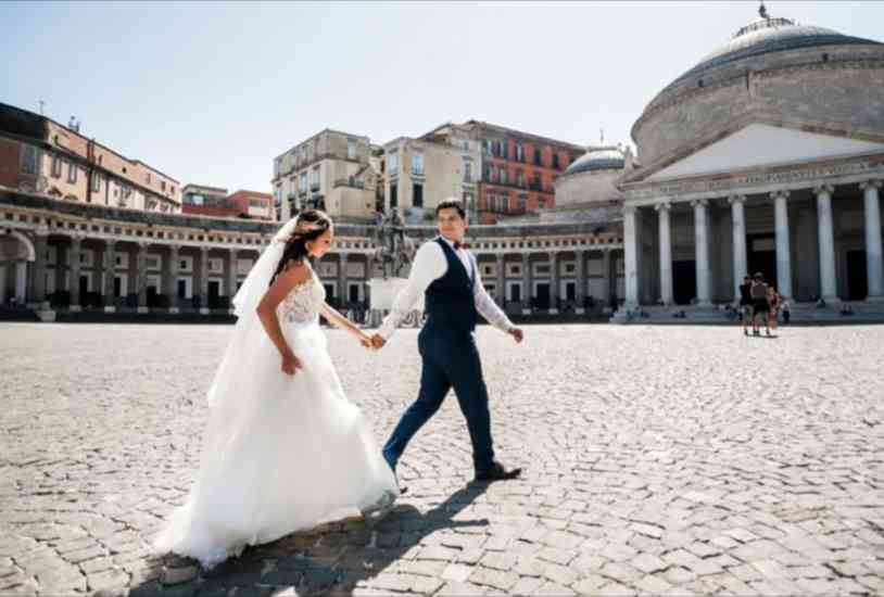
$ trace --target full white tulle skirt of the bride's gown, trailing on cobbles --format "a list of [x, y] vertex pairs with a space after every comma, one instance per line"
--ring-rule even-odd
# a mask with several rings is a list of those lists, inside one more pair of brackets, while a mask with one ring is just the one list
[[263, 330], [237, 330], [210, 390], [200, 470], [154, 548], [211, 568], [247, 545], [358, 516], [397, 495], [395, 477], [349, 402], [318, 320], [283, 323], [303, 368], [280, 370]]

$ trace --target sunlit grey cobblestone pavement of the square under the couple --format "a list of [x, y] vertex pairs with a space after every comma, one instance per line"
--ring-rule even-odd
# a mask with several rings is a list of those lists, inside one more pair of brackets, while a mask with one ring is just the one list
[[[0, 594], [884, 594], [884, 327], [536, 326], [521, 346], [483, 328], [496, 448], [523, 479], [468, 483], [450, 398], [386, 518], [200, 572], [148, 545], [230, 332], [0, 325]], [[415, 331], [378, 354], [329, 336], [386, 439]]]

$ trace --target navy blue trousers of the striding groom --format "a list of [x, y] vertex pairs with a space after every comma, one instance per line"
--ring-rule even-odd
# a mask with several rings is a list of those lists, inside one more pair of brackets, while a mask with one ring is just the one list
[[449, 390], [454, 389], [460, 411], [467, 420], [476, 473], [487, 472], [494, 461], [491, 415], [482, 364], [472, 333], [437, 327], [428, 321], [420, 330], [417, 345], [424, 360], [420, 392], [383, 446], [383, 457], [395, 471], [405, 446], [435, 415]]

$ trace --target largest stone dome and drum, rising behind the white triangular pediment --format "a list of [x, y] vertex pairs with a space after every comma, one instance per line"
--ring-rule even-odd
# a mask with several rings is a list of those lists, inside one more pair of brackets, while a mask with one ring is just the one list
[[632, 126], [646, 167], [750, 123], [884, 129], [884, 43], [768, 15], [669, 84]]

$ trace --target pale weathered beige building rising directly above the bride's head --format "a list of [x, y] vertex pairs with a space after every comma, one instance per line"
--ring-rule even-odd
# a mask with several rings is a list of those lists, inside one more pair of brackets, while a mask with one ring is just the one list
[[337, 219], [372, 221], [379, 183], [367, 137], [325, 129], [274, 160], [274, 202], [279, 219], [306, 207]]

